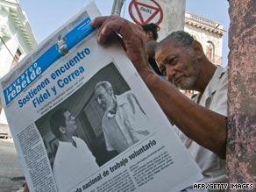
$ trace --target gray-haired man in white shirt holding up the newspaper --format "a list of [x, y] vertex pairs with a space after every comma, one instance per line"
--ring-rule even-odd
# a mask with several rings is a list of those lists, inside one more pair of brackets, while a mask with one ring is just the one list
[[[182, 141], [202, 168], [202, 182], [224, 182], [227, 74], [203, 53], [203, 47], [185, 32], [175, 32], [156, 48], [156, 61], [167, 81], [149, 67], [144, 32], [139, 25], [118, 17], [100, 17], [98, 43], [117, 37], [167, 117], [181, 132]], [[118, 35], [112, 35], [113, 32]], [[199, 92], [195, 103], [179, 89]], [[187, 189], [189, 191], [189, 188]]]

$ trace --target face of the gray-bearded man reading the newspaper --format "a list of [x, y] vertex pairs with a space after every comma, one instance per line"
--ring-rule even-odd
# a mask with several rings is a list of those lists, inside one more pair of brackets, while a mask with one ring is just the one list
[[179, 89], [193, 89], [200, 66], [194, 52], [167, 39], [156, 52], [160, 71]]

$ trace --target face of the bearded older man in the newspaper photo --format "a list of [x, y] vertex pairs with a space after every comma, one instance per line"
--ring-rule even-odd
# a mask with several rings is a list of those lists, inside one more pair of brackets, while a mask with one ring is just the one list
[[102, 86], [96, 89], [96, 101], [104, 111], [109, 110], [113, 103], [111, 93]]

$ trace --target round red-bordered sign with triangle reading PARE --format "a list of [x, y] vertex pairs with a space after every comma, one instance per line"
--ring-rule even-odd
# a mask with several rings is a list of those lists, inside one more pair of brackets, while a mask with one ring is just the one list
[[160, 4], [154, 0], [132, 0], [129, 4], [129, 14], [138, 25], [154, 23], [160, 25], [163, 11]]

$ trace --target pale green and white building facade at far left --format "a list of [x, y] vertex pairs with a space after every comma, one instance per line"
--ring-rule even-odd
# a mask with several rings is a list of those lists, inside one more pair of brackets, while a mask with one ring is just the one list
[[[0, 0], [0, 78], [6, 75], [37, 41], [18, 0]], [[0, 103], [0, 128], [7, 121]]]

